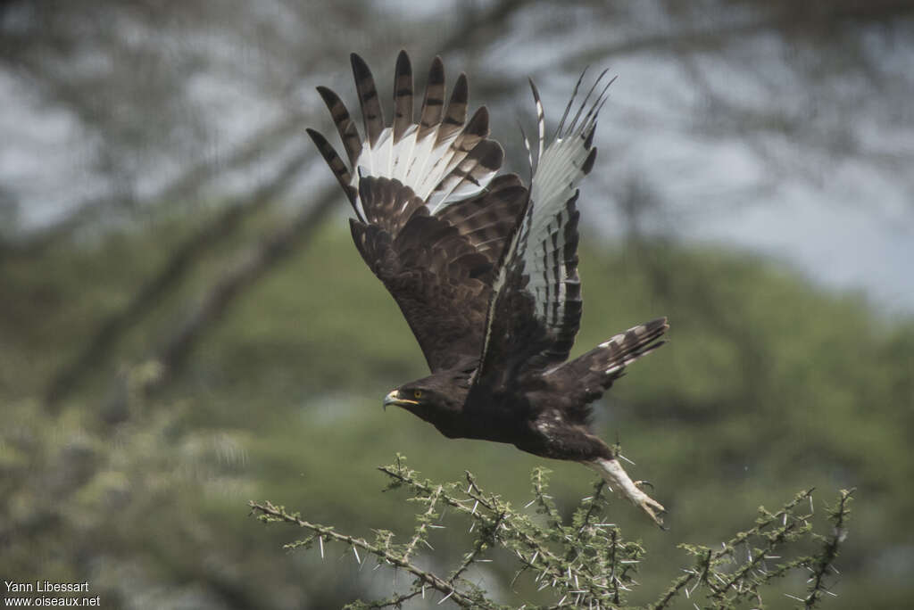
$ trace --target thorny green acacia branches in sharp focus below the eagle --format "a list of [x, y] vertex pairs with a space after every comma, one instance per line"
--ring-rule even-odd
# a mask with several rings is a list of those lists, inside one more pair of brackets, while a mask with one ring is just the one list
[[[289, 514], [282, 507], [269, 502], [251, 502], [250, 506], [260, 512], [264, 521], [287, 521], [312, 532], [303, 541], [287, 544], [288, 549], [310, 548], [316, 540], [321, 544], [323, 557], [324, 540], [344, 542], [353, 548], [353, 554], [359, 562], [362, 561], [359, 551], [370, 552], [377, 556], [379, 563], [395, 567], [407, 567], [406, 564], [409, 564], [409, 573], [417, 576], [409, 592], [393, 594], [387, 600], [370, 604], [356, 602], [347, 606], [350, 608], [399, 607], [409, 599], [419, 595], [424, 597], [428, 587], [444, 594], [441, 602], [450, 599], [462, 607], [500, 607], [489, 600], [482, 589], [463, 578], [474, 563], [485, 561], [482, 559], [484, 552], [499, 547], [517, 557], [521, 564], [515, 580], [529, 570], [533, 576], [532, 584], [538, 590], [547, 589], [556, 594], [558, 601], [544, 607], [630, 607], [625, 605], [625, 597], [637, 586], [632, 573], [638, 570], [644, 550], [639, 544], [624, 540], [622, 532], [614, 525], [597, 522], [607, 509], [607, 503], [600, 498], [602, 486], [595, 486], [597, 493], [581, 500], [570, 522], [562, 520], [559, 515], [558, 522], [546, 528], [537, 526], [526, 513], [513, 509], [510, 504], [499, 500], [497, 495], [485, 492], [469, 472], [466, 473], [466, 483], [433, 483], [428, 479], [420, 479], [415, 470], [405, 468], [402, 459], [398, 456], [396, 464], [380, 468], [390, 479], [388, 489], [405, 487], [409, 489], [410, 500], [428, 504], [428, 508], [416, 514], [415, 519], [420, 527], [406, 544], [394, 543], [394, 534], [387, 530], [377, 531], [377, 540], [372, 543], [345, 536], [331, 527], [303, 521], [300, 515]], [[537, 499], [548, 503], [545, 497], [546, 471], [541, 468], [534, 470], [532, 483], [534, 500], [527, 507], [536, 503]], [[838, 547], [844, 541], [848, 514], [846, 498], [849, 493], [842, 492], [842, 501], [834, 510], [831, 519], [835, 530], [827, 540], [827, 545], [830, 546], [826, 546], [823, 552], [815, 558], [796, 557], [772, 571], [763, 565], [765, 560], [775, 558], [775, 550], [779, 552], [779, 557], [796, 552], [796, 545], [791, 543], [804, 541], [804, 535], [816, 539], [817, 534], [812, 532], [809, 522], [813, 514], [812, 502], [809, 514], [802, 514], [798, 510], [803, 501], [811, 501], [811, 493], [812, 490], [803, 491], [776, 512], [760, 509], [760, 517], [755, 525], [737, 533], [721, 549], [681, 545], [696, 556], [694, 566], [678, 576], [672, 586], [648, 607], [654, 610], [667, 608], [680, 593], [692, 597], [701, 585], [705, 585], [701, 594], [707, 600], [706, 606], [710, 608], [723, 610], [737, 607], [748, 600], [762, 605], [762, 585], [770, 584], [784, 573], [810, 567], [818, 562], [819, 567], [815, 572], [820, 573], [822, 578], [811, 579], [811, 594], [806, 600], [809, 607], [816, 605], [821, 596], [813, 593], [824, 591], [822, 580], [832, 565]], [[423, 526], [439, 527], [430, 524], [432, 519], [437, 518], [434, 507], [439, 503], [453, 507], [464, 518], [468, 517], [473, 522], [470, 531], [478, 526], [472, 548], [462, 554], [460, 562], [447, 578], [421, 570], [410, 560], [419, 548], [418, 542], [425, 541], [426, 529]], [[542, 509], [537, 512], [542, 512]], [[825, 540], [824, 537], [818, 538]], [[748, 560], [739, 562], [736, 559], [737, 545], [745, 544], [748, 552], [750, 542], [760, 549], [749, 552]], [[430, 546], [429, 549], [434, 551]], [[514, 582], [512, 581], [512, 586]], [[803, 601], [799, 597], [796, 599]]]

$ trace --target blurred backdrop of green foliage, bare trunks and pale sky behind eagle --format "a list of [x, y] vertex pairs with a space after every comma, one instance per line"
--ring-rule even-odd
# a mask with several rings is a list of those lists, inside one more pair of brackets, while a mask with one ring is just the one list
[[[670, 318], [596, 408], [670, 511], [661, 532], [614, 505], [647, 550], [632, 602], [688, 562], [677, 543], [814, 486], [858, 489], [826, 607], [907, 605], [909, 3], [191, 4], [0, 3], [0, 578], [89, 581], [103, 607], [338, 607], [393, 574], [284, 552], [297, 532], [247, 500], [405, 535], [375, 469], [401, 452], [526, 504], [543, 460], [380, 408], [424, 361], [304, 137], [328, 127], [314, 85], [355, 110], [350, 51], [383, 98], [403, 47], [420, 82], [436, 53], [468, 73], [521, 174], [527, 75], [551, 121], [585, 65], [621, 75], [581, 194], [572, 355]], [[590, 493], [547, 466], [562, 509]], [[442, 531], [423, 561], [447, 571], [466, 541]], [[505, 604], [555, 602], [487, 565]]]

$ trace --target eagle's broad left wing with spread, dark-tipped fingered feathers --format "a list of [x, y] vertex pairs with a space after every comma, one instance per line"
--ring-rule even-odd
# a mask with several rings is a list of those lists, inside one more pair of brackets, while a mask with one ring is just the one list
[[494, 268], [526, 202], [515, 175], [493, 179], [501, 146], [488, 140], [489, 115], [467, 121], [461, 75], [444, 105], [444, 68], [432, 61], [420, 118], [413, 121], [412, 68], [400, 52], [394, 118], [387, 125], [375, 81], [352, 55], [365, 125], [361, 138], [342, 100], [318, 88], [348, 163], [308, 130], [356, 213], [356, 247], [399, 304], [432, 372], [474, 368], [482, 352]]

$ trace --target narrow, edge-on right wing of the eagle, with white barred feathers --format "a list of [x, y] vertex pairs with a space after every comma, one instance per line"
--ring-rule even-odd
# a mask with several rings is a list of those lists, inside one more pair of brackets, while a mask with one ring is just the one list
[[543, 106], [530, 83], [539, 128], [536, 163], [530, 152], [530, 198], [495, 275], [477, 383], [497, 384], [496, 376], [513, 378], [562, 363], [574, 344], [581, 312], [577, 185], [596, 158], [593, 131], [609, 83], [599, 95], [594, 91], [604, 75], [570, 117], [581, 75], [548, 145]]

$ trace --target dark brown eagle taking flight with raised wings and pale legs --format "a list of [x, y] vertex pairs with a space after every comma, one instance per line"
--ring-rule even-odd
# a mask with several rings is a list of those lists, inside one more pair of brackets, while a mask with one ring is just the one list
[[450, 438], [511, 443], [543, 458], [597, 470], [662, 525], [664, 507], [632, 481], [617, 453], [589, 427], [590, 404], [625, 367], [663, 344], [665, 318], [617, 334], [578, 358], [569, 351], [581, 314], [578, 183], [590, 173], [605, 71], [546, 138], [537, 88], [538, 142], [530, 184], [498, 173], [504, 152], [488, 139], [485, 107], [467, 120], [461, 74], [445, 103], [441, 58], [431, 62], [418, 120], [403, 51], [394, 75], [392, 123], [371, 71], [353, 54], [364, 118], [360, 135], [332, 90], [330, 110], [348, 163], [309, 129], [355, 211], [356, 248], [397, 301], [431, 374], [391, 391], [384, 405], [420, 416]]

